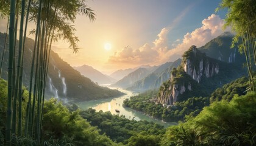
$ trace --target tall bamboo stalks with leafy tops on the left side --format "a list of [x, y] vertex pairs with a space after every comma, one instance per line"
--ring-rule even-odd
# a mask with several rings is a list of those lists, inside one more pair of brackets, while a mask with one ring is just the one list
[[[10, 3], [1, 0], [0, 13], [1, 16], [7, 16], [10, 13], [8, 16], [10, 26], [5, 142], [7, 145], [12, 145], [15, 144], [13, 137], [26, 136], [35, 139], [39, 145], [43, 120], [44, 88], [52, 41], [66, 40], [73, 52], [77, 53], [79, 40], [74, 34], [75, 29], [71, 23], [74, 23], [76, 15], [85, 15], [94, 21], [95, 14], [84, 0], [11, 0]], [[35, 36], [35, 43], [30, 64], [29, 99], [27, 99], [26, 113], [23, 114], [21, 112], [23, 52], [29, 22], [35, 23], [36, 29], [30, 30], [30, 33]], [[20, 27], [20, 36], [17, 44], [18, 27]], [[15, 49], [18, 49], [17, 55]]]

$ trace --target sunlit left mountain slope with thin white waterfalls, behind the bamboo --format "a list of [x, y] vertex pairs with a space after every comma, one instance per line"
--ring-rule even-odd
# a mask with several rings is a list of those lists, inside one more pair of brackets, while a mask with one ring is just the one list
[[[0, 33], [0, 52], [4, 49], [4, 33]], [[18, 41], [17, 41], [18, 43]], [[8, 43], [7, 43], [8, 44]], [[18, 45], [17, 45], [18, 46]], [[29, 86], [30, 64], [32, 58], [32, 48], [34, 40], [26, 38], [24, 50], [24, 74], [23, 85]], [[8, 48], [8, 46], [7, 46]], [[17, 52], [17, 49], [16, 49]], [[7, 80], [8, 49], [5, 52], [2, 78]], [[18, 54], [18, 53], [16, 53]], [[18, 57], [16, 57], [18, 58]], [[93, 99], [103, 99], [120, 96], [121, 92], [105, 88], [93, 83], [89, 78], [84, 77], [80, 72], [73, 69], [68, 63], [63, 61], [58, 54], [51, 51], [49, 60], [48, 78], [46, 81], [46, 96], [60, 97], [68, 100], [84, 101]]]

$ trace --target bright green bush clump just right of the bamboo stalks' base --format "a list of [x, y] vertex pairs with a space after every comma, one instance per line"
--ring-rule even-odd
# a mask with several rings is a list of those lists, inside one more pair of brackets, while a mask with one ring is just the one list
[[51, 99], [44, 104], [43, 139], [65, 139], [74, 145], [113, 145], [104, 134], [99, 134], [87, 120], [79, 115], [79, 110], [68, 108]]

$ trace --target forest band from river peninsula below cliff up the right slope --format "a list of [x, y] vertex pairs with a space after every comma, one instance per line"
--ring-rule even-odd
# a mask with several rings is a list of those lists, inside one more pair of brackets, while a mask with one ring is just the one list
[[185, 116], [195, 117], [205, 106], [210, 105], [210, 102], [230, 101], [235, 94], [238, 94], [238, 96], [246, 94], [248, 85], [247, 78], [241, 77], [222, 86], [222, 88], [216, 89], [210, 97], [190, 97], [187, 100], [176, 102], [174, 106], [155, 104], [157, 91], [148, 91], [124, 100], [123, 106], [142, 111], [148, 116], [167, 122], [178, 122], [179, 120], [185, 120]]

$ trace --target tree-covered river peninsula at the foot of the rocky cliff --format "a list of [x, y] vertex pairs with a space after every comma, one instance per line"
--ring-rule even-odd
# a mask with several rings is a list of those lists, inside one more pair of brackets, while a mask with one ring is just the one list
[[174, 106], [163, 106], [155, 104], [155, 97], [152, 96], [156, 91], [144, 92], [138, 96], [124, 100], [123, 106], [130, 107], [137, 111], [142, 111], [148, 116], [155, 117], [166, 122], [178, 122], [184, 120], [186, 115], [196, 116], [204, 106], [210, 104], [207, 97], [191, 97], [182, 102], [176, 102]]

